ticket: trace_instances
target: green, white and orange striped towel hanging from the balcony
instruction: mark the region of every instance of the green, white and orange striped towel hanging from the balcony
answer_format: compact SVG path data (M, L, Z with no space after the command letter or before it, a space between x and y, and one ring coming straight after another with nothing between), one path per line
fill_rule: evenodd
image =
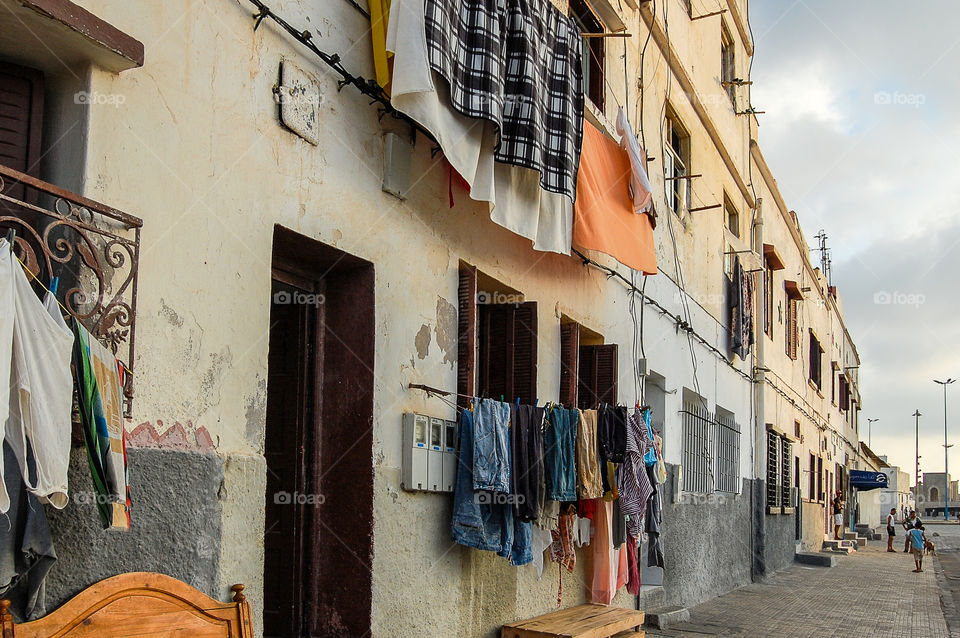
M97 509L104 527L130 528L127 451L123 429L123 387L116 357L74 319L80 421Z

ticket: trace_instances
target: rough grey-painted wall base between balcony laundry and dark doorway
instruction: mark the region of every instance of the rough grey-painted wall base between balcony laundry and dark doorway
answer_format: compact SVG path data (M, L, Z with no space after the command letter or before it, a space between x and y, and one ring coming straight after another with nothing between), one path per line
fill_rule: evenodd
M109 576L160 572L220 597L223 461L214 454L129 449L133 524L128 532L100 525L86 451L70 458L70 503L47 518L57 551L46 581L47 610Z

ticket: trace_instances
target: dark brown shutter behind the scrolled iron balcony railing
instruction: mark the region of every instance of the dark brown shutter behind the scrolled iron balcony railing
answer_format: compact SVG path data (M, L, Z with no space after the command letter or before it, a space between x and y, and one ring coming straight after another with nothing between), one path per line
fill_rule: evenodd
M40 131L43 124L43 74L13 64L0 64L0 164L39 177ZM7 184L7 194L30 203L22 184ZM5 203L0 203L3 207ZM9 211L10 204L5 204Z

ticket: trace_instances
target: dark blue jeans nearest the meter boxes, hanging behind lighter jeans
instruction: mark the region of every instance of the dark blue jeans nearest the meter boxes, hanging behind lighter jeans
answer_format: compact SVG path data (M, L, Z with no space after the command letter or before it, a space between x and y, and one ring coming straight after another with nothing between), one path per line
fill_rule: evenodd
M533 560L530 523L517 520L509 502L497 502L507 499L474 491L473 452L473 413L464 410L460 415L460 453L451 536L454 542L466 547L497 552L514 565L526 565Z

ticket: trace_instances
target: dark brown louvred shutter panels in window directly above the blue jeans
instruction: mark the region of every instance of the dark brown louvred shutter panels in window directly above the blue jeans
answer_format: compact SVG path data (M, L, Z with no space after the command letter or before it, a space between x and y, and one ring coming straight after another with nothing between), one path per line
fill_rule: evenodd
M482 396L537 399L537 304L479 307L479 384Z

